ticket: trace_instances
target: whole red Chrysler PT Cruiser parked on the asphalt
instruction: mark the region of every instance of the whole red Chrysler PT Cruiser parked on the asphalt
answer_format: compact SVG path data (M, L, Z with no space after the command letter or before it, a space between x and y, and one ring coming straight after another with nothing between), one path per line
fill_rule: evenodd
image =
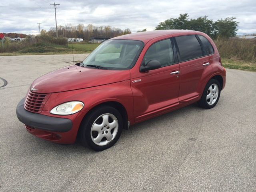
M17 106L31 134L93 150L113 146L122 129L198 102L213 108L226 70L209 36L156 30L103 42L83 62L36 79Z

